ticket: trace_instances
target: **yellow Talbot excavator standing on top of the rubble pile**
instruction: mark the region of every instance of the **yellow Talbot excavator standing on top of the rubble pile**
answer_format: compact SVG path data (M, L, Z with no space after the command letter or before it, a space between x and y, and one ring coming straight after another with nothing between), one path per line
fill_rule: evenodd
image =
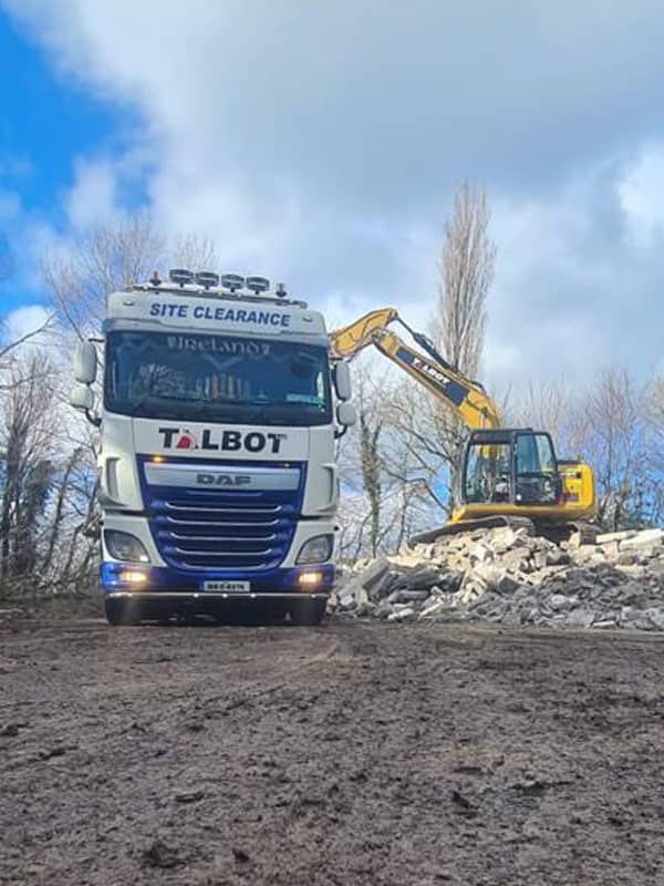
M422 349L407 344L390 324L400 323ZM413 536L432 542L477 527L526 526L556 542L575 532L592 535L594 477L590 465L558 459L551 435L532 427L502 427L485 388L448 362L434 342L411 329L394 308L370 311L330 333L332 360L351 360L373 346L448 406L468 429L460 465L459 505L445 526Z

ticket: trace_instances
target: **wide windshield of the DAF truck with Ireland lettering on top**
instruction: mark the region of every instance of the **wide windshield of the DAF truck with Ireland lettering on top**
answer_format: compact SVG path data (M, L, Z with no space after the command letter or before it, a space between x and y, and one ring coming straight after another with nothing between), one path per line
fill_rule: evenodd
M146 419L328 424L328 350L227 336L111 332L104 405Z

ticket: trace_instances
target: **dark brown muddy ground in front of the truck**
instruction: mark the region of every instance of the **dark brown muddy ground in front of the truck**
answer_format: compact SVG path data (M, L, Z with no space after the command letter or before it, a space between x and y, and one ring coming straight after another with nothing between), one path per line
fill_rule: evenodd
M662 884L664 638L0 627L0 883Z

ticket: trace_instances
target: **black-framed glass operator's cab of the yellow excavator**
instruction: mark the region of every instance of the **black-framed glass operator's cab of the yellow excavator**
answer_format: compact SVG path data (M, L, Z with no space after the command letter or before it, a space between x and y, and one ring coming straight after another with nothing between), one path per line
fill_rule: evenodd
M543 431L474 431L463 465L461 501L468 506L556 505L562 481L551 436Z

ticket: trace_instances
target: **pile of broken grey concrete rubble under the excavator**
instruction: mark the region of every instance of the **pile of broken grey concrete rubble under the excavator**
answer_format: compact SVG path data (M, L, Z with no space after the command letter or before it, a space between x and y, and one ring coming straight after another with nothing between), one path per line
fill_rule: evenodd
M342 574L331 607L387 621L664 630L664 530L579 535L475 529Z

